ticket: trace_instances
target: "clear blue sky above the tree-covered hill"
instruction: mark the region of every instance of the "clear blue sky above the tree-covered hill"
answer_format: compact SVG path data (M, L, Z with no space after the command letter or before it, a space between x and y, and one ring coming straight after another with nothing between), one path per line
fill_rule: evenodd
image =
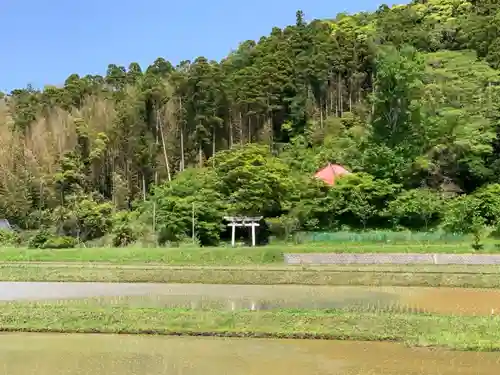
M390 3L387 1L387 3ZM273 26L375 10L380 0L0 0L0 90L61 84L110 63L147 67L203 55L219 60Z

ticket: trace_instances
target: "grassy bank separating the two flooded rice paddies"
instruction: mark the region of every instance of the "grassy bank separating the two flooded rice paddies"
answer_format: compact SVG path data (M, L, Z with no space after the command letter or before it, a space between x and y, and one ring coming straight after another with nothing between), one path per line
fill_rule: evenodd
M500 350L500 317L341 310L223 312L17 303L0 305L0 331L398 341L456 350Z

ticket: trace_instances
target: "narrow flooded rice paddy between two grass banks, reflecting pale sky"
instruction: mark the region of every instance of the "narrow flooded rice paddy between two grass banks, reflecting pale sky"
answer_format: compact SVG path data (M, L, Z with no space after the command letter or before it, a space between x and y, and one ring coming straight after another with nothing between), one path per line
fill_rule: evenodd
M373 308L440 314L500 314L500 290L423 287L0 282L0 301L73 300L140 307Z

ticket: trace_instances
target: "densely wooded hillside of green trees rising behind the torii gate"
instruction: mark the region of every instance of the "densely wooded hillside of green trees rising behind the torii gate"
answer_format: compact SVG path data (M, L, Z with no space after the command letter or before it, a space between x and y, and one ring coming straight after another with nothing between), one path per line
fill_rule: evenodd
M230 211L302 229L427 227L441 206L396 208L500 182L498 68L497 0L415 0L310 23L298 11L220 62L111 64L13 90L0 99L0 216L91 239L157 186L155 230L169 233L187 234L178 212L194 201L207 210L197 233ZM325 190L310 176L328 162L362 173Z

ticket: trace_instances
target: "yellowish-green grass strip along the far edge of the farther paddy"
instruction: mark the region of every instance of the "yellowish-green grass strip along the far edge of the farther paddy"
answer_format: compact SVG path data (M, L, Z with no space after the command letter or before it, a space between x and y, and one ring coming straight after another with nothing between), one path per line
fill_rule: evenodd
M499 276L499 266L460 265L165 267L104 264L0 264L0 281L499 288Z

